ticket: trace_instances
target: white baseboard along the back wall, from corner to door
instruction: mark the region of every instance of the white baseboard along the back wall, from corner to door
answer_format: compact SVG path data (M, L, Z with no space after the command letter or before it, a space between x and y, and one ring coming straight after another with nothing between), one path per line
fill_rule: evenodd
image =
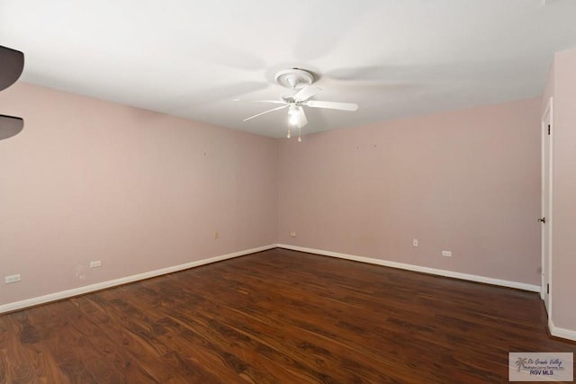
M452 277L455 279L484 282L486 284L500 285L502 287L509 287L509 288L516 288L518 290L530 290L532 292L540 292L540 286L539 285L527 284L525 282L493 279L491 277L478 276L475 274L446 271L446 270L423 267L423 266L419 266L419 265L406 264L406 263L397 263L397 262L391 262L388 260L373 259L371 257L340 254L338 252L323 251L321 249L305 248L302 246L289 246L286 244L278 244L277 246L279 248L291 249L293 251L301 251L301 252L308 252L308 253L317 254L317 255L338 257L340 259L353 260L355 262L371 263L371 264L383 265L386 267L399 268L399 269L408 270L408 271L423 272L423 273L429 273L429 274L436 274L438 276Z

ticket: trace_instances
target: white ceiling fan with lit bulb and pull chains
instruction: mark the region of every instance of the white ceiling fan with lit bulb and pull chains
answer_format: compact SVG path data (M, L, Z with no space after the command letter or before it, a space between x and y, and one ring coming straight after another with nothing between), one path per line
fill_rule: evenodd
M285 69L277 72L275 75L275 83L296 90L295 94L291 96L281 96L280 100L254 100L256 103L275 103L282 104L279 107L266 110L265 112L257 113L250 116L243 121L249 121L266 113L280 111L288 108L288 122L291 127L299 129L298 141L302 141L301 129L308 124L306 113L303 107L310 108L325 108L338 111L355 112L358 110L356 103L339 103L339 102L323 102L318 100L311 100L311 97L320 92L320 88L312 86L315 79L311 72L300 68ZM292 129L288 129L287 138L292 137Z

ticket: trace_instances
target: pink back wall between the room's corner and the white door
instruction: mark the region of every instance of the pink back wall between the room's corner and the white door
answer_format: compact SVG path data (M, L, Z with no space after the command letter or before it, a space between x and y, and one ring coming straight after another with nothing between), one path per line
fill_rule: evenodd
M536 98L283 140L278 241L539 285L539 121Z

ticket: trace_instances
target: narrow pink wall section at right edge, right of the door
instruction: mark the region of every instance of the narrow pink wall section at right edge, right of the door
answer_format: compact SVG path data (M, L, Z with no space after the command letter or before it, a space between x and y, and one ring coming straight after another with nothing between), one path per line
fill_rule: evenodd
M554 326L576 335L576 49L559 52L554 79Z

